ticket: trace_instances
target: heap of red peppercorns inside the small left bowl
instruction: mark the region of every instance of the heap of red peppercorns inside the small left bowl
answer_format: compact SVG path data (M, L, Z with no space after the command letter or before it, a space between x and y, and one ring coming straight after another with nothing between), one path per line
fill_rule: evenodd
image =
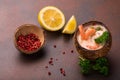
M27 35L19 35L17 39L19 48L25 51L34 51L41 46L41 42L37 35L30 33Z

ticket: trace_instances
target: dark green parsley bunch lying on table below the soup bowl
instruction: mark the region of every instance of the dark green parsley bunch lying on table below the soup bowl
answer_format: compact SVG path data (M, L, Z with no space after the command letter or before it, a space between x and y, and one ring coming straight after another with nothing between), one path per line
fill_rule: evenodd
M98 58L95 61L80 58L79 65L83 74L89 74L94 70L107 76L109 72L108 60L105 57Z

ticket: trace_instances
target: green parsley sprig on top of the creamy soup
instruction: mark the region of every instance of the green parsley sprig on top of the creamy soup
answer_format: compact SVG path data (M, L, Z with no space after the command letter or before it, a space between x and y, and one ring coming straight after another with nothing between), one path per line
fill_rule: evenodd
M95 39L95 42L100 44L100 43L105 43L109 38L109 33L108 31L105 31L100 37Z

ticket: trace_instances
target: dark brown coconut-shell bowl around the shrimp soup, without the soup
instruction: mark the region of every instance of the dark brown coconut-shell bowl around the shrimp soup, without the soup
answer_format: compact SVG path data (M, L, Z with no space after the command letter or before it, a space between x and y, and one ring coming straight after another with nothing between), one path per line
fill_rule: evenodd
M112 45L112 36L111 36L111 33L110 33L109 29L107 28L107 26L105 24L103 24L102 22L98 22L98 21L90 21L90 22L86 22L82 25L83 25L83 27L87 27L89 25L104 26L109 32L109 39L108 39L108 41L106 41L105 45L102 48L100 48L98 50L88 50L88 49L83 48L78 43L77 36L79 35L79 30L76 30L76 32L74 34L74 42L75 42L75 47L76 47L78 53L80 54L80 56L83 58L86 58L86 59L90 59L90 60L95 60L99 57L106 56Z

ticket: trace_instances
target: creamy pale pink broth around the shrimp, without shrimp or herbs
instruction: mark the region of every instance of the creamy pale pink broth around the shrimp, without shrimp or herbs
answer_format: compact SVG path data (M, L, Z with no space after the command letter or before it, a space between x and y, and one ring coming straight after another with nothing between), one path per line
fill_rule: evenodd
M96 31L95 34L93 36L89 37L87 40L82 40L80 34L77 36L78 43L81 45L81 47L88 49L88 50L98 50L104 46L105 43L104 44L96 44L96 42L94 40L94 39L98 38L99 36L101 36L105 31L107 31L107 29L104 26L102 26L102 25L94 25L94 26L90 25L90 26L86 27L85 30L89 29L89 28L97 29L98 27L101 30ZM98 46L98 47L95 49L91 49L89 46L92 46L92 47Z

